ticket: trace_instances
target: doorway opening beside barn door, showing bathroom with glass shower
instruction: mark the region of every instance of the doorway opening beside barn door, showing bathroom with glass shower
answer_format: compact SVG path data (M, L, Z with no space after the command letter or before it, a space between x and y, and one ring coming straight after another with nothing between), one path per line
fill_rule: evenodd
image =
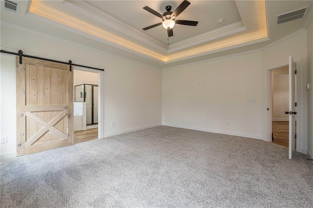
M99 74L74 68L74 144L100 138Z

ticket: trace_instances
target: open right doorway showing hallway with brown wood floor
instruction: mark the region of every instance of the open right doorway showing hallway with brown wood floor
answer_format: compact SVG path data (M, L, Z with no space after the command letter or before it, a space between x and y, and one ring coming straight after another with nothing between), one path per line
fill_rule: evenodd
M268 129L271 141L274 144L289 147L289 65L269 70L269 101L271 111Z

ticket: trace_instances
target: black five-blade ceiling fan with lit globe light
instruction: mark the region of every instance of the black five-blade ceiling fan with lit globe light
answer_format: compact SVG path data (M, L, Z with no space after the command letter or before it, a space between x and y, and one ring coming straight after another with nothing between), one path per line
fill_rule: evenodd
M157 17L161 18L163 22L151 25L149 27L143 28L143 30L149 30L151 28L154 28L158 25L163 25L165 29L167 29L167 35L168 37L173 36L173 27L175 24L183 24L183 25L190 25L190 26L197 26L198 21L189 21L189 20L175 20L179 14L184 11L188 6L190 2L187 0L182 1L179 6L175 9L174 12L171 12L172 6L166 6L166 12L164 12L162 15L155 10L151 9L149 6L143 7L144 10L150 12L153 15L156 15Z

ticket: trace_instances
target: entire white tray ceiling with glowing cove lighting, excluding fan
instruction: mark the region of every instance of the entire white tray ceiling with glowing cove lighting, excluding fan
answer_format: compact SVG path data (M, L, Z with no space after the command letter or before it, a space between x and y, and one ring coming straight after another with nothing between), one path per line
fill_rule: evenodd
M264 47L312 21L312 0L189 0L177 20L199 21L197 26L175 25L169 38L161 25L150 30L159 13L173 0L33 0L19 2L19 14L3 9L1 26L83 44L139 62L165 68L187 62ZM304 18L276 24L276 16L309 6ZM218 20L223 18L223 23Z

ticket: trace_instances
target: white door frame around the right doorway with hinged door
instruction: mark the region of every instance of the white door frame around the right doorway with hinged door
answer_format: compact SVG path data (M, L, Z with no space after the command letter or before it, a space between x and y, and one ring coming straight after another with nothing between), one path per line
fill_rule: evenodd
M269 110L267 110L268 113L268 118L266 119L266 126L267 126L267 134L266 134L266 141L271 142L272 141L272 135L271 135L271 128L272 128L272 96L271 96L271 84L272 84L272 76L271 76L271 71L274 69L278 69L284 66L288 66L289 64L286 65L281 65L275 68L271 68L271 69L267 69L266 73L267 73L267 91L266 91L266 98L267 98L267 108L269 108ZM302 64L301 62L296 62L296 70L297 70L297 76L296 76L296 98L297 98L297 126L296 126L296 131L297 131L297 142L296 142L296 151L297 152L302 152L304 154L306 154L306 152L304 152L304 150L302 149L302 135L303 134L303 127L302 127L302 106L301 106L301 99L302 99L302 92L301 92L301 84L302 84L302 80L301 80L301 67Z

